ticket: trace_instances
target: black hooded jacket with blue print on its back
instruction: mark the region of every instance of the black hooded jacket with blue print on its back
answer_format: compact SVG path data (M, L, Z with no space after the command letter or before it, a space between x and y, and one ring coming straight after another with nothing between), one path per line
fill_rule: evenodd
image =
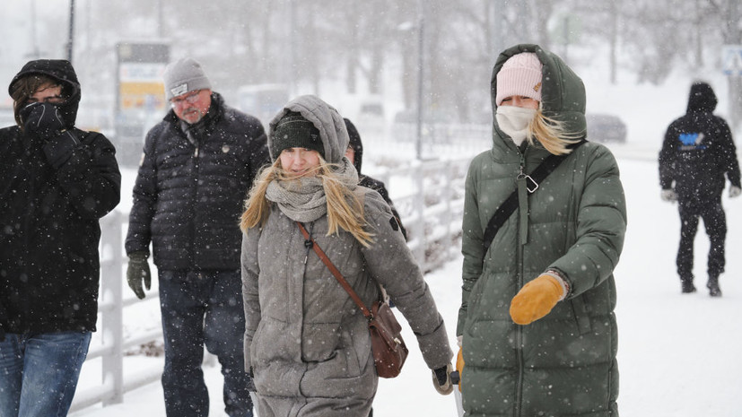
M729 125L714 116L716 94L707 83L694 83L685 116L668 126L659 152L659 184L673 187L680 201L711 202L720 198L726 173L739 185L737 148Z

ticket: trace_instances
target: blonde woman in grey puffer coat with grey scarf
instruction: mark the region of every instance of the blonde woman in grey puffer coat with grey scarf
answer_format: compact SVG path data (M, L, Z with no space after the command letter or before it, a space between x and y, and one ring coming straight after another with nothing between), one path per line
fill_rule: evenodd
M367 306L379 299L378 284L386 288L442 376L436 388L450 387L441 315L388 205L356 186L347 145L343 117L314 96L292 100L270 123L274 163L250 190L241 221L245 366L261 417L366 416L377 388L367 320L296 222Z

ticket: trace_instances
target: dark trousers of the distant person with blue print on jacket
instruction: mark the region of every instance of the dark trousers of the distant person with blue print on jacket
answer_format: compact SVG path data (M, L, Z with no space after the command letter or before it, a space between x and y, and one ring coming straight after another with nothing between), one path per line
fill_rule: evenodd
M721 197L711 202L679 202L680 248L677 249L677 274L680 279L693 279L693 244L698 219L703 219L706 234L711 239L707 272L718 277L724 272L724 240L727 238L727 218L721 207Z

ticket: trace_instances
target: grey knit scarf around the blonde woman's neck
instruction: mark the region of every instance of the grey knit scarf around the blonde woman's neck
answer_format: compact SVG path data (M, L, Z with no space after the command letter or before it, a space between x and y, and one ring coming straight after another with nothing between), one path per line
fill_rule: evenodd
M358 173L346 158L333 172L345 187L354 189L358 185ZM295 222L314 222L327 213L325 188L316 177L274 179L268 184L266 198L278 204L281 212Z

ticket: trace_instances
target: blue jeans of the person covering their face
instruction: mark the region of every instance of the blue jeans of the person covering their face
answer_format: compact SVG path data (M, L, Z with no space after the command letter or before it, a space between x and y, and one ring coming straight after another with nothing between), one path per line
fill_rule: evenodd
M0 417L64 417L90 332L5 334L0 342Z

